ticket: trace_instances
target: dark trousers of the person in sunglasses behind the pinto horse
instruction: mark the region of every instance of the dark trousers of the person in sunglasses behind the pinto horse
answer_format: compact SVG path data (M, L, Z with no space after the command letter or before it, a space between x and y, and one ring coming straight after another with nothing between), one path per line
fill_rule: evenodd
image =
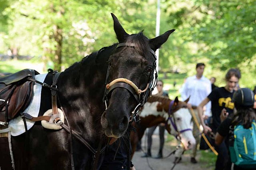
M154 130L156 129L157 126L150 127L148 128L148 150L151 149L152 145L152 134L154 133ZM159 126L159 137L160 137L160 148L159 151L163 150L164 147L164 126Z

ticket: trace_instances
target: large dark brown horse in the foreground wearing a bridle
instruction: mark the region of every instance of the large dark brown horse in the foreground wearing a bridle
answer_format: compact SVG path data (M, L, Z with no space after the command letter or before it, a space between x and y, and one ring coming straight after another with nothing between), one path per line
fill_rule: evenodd
M154 88L154 52L174 30L148 39L142 32L129 35L114 14L112 18L118 43L74 63L53 86L58 89L58 108L69 121L69 125L65 121L66 130L46 129L37 122L27 135L12 136L16 170L89 170L95 166L94 156L99 168L104 154L96 151L120 138L133 118L132 111L146 101ZM52 85L52 76L49 73L44 83ZM38 116L51 108L51 90L44 86Z

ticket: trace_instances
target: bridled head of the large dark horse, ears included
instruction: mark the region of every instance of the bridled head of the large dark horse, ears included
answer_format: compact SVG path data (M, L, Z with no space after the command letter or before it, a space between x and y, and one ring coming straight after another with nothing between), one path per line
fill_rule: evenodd
M154 86L154 52L174 30L148 39L142 32L127 34L114 14L112 18L119 44L108 60L109 84L106 88L108 93L105 93L108 107L102 114L101 125L107 136L118 138L126 131L132 111L139 103L144 103L143 100L146 100ZM140 89L146 91L141 92Z

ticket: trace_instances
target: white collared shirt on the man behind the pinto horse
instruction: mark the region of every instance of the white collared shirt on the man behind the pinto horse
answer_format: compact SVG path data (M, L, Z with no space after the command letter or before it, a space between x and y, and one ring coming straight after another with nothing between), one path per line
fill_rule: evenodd
M196 78L196 75L188 77L182 88L180 94L182 100L188 99L188 103L192 106L198 106L212 91L211 82L206 77L202 76L200 79ZM205 115L210 116L211 102L206 104Z

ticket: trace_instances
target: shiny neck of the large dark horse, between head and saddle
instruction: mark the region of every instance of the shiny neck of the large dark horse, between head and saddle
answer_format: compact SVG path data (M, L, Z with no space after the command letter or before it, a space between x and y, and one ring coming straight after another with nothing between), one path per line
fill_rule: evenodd
M95 57L62 72L57 86L70 126L85 139L97 141L102 131L100 117L105 110L102 98L108 65L95 63Z

